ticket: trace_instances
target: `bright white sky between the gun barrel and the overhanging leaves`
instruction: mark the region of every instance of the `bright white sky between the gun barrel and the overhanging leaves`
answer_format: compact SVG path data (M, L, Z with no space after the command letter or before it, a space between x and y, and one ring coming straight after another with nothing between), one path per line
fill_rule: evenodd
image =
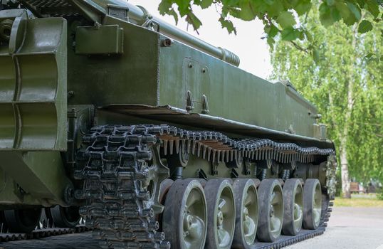
M152 16L162 18L175 25L172 16L161 16L158 11L160 0L129 0L130 4L144 6ZM196 16L202 21L202 26L199 28L199 34L193 31L192 26L187 28L187 22L179 20L177 27L184 31L192 33L194 36L201 38L214 46L229 49L229 51L236 53L241 58L239 68L253 73L261 78L267 78L271 75L270 55L268 52L268 45L266 39L261 39L265 36L263 33L263 24L261 21L241 21L233 18L231 21L237 29L237 35L230 34L226 29L221 28L219 23L219 14L216 13L214 7L209 9L194 8Z

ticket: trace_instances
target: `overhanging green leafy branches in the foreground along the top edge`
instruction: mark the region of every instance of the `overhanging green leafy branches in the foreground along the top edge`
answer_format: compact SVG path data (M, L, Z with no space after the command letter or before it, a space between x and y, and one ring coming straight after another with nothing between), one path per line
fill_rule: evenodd
M374 25L379 26L383 18L383 0L162 0L159 12L174 16L176 22L184 17L198 30L202 23L194 14L193 7L206 9L212 5L216 7L221 26L229 33L236 33L231 18L245 21L258 18L263 21L265 38L271 47L280 35L281 39L290 41L295 48L311 53L315 61L318 61L317 47L313 43L311 30L303 25L311 9L319 11L323 26L342 21L347 26L354 26L359 33L371 31ZM362 12L372 18L364 18ZM300 17L299 22L295 16ZM296 40L306 40L308 43L301 46Z

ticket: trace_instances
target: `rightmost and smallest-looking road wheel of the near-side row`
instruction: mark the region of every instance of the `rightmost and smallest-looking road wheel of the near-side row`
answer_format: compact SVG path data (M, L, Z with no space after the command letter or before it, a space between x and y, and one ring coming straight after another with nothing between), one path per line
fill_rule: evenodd
M318 179L307 179L303 186L303 228L315 230L322 215L322 190Z

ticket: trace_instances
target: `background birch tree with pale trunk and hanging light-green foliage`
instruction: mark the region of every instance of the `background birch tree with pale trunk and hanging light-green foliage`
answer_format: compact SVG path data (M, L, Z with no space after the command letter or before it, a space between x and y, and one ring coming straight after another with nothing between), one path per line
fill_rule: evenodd
M289 79L318 105L338 148L342 191L350 197L350 176L364 182L369 177L383 179L383 23L362 34L358 30L363 21L352 26L340 21L325 28L317 24L320 15L320 9L313 8L304 24L318 47L318 63L277 38L272 78ZM360 19L373 18L362 12ZM298 43L307 46L308 41Z

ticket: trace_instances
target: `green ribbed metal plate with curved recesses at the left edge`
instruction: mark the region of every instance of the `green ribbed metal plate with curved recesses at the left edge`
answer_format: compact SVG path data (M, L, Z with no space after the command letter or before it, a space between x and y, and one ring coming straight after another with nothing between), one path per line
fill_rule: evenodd
M63 18L1 11L0 149L65 150L67 34Z

